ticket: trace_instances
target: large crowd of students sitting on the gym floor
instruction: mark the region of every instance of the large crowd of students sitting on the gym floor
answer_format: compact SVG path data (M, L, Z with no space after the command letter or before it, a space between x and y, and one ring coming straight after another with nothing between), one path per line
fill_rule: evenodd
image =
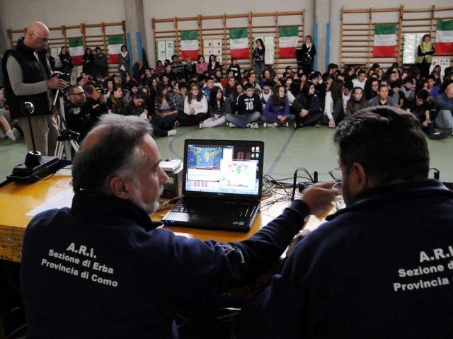
M172 61L159 60L154 69L139 60L132 72L125 62L120 62L118 70L122 77L113 74L101 81L83 72L77 84L87 96L95 87L103 89L106 105L98 113L142 116L161 137L187 126L333 128L357 111L377 105L412 112L430 139L453 136L450 120L438 114L449 100L445 88L452 82L451 67L445 69L443 81L440 66L425 79L416 67L400 71L398 64L386 71L379 64L369 70L347 67L343 71L329 64L324 74L288 66L279 75L273 67L264 67L260 74L253 69L241 71L237 59L224 71L214 55L209 62L200 55L197 63L190 57L183 63L173 55ZM449 132L436 132L436 124Z

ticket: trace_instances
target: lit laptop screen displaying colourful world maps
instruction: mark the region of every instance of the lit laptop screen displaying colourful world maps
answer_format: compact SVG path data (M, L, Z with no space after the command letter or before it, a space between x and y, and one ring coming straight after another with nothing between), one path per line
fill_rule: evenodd
M264 143L185 140L185 195L260 199Z

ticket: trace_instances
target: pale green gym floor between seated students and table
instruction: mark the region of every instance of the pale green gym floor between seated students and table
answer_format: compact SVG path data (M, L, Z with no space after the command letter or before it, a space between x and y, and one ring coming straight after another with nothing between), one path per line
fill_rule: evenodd
M336 147L333 144L333 129L321 126L304 127L293 130L292 127L260 128L242 130L227 126L205 128L178 127L178 134L173 137L156 138L163 160L183 159L185 139L248 139L265 142L264 173L275 180L292 182L294 171L306 168L311 175L318 171L319 180L328 180L328 171L338 166ZM452 154L453 137L445 140L429 140L430 167L440 171L440 180L453 182ZM23 139L12 142L0 139L0 183L6 180L13 167L25 161L26 147ZM299 172L302 175L302 172ZM430 171L430 178L433 172ZM299 181L305 181L300 178Z

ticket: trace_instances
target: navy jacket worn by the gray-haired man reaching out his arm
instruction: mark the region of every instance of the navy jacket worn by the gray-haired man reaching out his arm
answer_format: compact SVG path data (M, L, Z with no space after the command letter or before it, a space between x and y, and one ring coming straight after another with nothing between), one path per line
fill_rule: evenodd
M173 338L176 306L258 277L308 213L299 200L249 239L219 243L156 229L127 200L76 193L71 209L38 214L25 231L28 338Z

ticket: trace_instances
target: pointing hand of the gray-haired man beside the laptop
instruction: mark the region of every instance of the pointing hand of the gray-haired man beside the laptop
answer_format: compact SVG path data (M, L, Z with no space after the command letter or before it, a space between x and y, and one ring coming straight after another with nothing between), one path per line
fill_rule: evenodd
M310 214L320 215L331 207L340 190L332 188L335 182L315 183L302 191L302 197L298 198L309 205Z

